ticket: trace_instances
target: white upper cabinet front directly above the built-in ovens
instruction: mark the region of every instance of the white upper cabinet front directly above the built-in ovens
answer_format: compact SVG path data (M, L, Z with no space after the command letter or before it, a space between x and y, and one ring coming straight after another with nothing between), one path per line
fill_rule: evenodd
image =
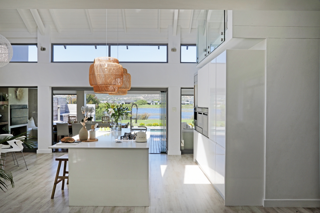
M207 64L198 70L198 107L209 107L208 67Z

